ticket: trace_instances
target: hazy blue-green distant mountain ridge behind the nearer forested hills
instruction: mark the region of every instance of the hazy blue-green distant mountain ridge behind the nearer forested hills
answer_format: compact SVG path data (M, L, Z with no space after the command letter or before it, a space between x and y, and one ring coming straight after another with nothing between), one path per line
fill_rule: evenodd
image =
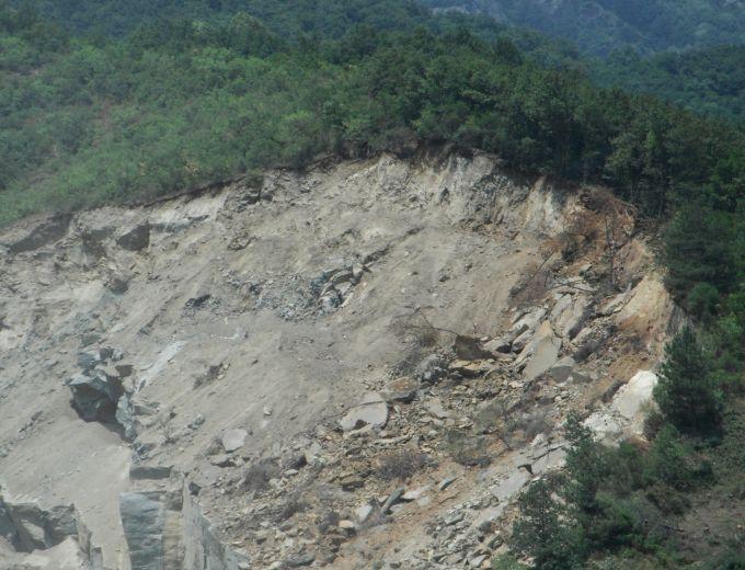
M425 0L435 9L482 12L607 55L745 43L743 0Z

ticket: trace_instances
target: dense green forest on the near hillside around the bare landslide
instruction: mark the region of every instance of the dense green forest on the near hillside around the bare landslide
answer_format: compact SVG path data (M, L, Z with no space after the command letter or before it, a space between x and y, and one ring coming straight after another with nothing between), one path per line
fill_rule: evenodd
M742 54L619 53L587 73L563 44L394 0L0 3L0 224L419 145L608 186L665 225L694 328L668 350L651 448L570 422L566 472L526 493L532 539L513 547L540 569L701 568L663 521L697 492L745 497L745 134L706 116L743 118ZM738 551L700 562L745 568Z

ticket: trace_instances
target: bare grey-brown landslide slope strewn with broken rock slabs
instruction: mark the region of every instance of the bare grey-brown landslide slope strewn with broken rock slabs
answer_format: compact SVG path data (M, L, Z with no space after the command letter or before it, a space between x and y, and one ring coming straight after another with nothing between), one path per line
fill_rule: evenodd
M485 567L569 410L640 433L676 320L632 210L483 155L0 243L0 568Z

